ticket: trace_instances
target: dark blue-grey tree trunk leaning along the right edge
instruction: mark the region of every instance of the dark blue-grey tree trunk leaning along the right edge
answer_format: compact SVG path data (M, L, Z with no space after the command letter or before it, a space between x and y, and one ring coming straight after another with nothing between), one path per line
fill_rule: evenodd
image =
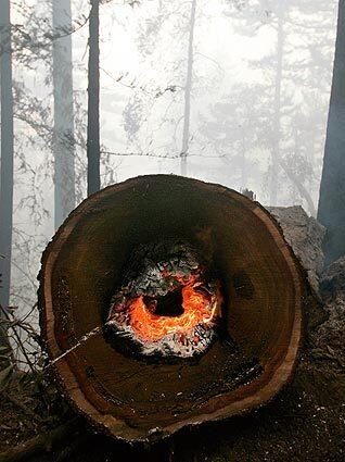
M345 254L345 1L340 0L318 220L327 227L325 264Z

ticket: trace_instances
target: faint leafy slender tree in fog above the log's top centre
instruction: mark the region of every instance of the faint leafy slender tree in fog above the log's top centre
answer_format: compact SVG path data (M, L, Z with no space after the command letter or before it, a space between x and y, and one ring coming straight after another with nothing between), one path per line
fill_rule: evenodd
M154 78L137 86L124 111L124 127L135 149L148 155L178 159L182 176L188 173L188 158L199 155L191 153L195 146L195 126L191 133L191 125L201 100L192 104L193 92L205 95L219 80L218 74L203 76L201 62L206 60L222 71L216 60L199 51L195 42L196 24L202 28L212 17L207 4L202 0L161 1L141 20L138 49L145 59L143 66L149 64L146 75L152 75L150 63L156 60L161 64ZM127 86L135 88L135 83Z

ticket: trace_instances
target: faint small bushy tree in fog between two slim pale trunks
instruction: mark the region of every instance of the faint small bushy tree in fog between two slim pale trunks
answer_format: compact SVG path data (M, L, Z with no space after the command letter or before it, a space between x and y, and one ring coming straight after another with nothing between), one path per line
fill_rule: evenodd
M231 87L230 91L210 104L202 114L199 128L201 146L207 146L227 165L227 177L238 190L253 187L259 165L253 151L265 149L269 92L261 85Z

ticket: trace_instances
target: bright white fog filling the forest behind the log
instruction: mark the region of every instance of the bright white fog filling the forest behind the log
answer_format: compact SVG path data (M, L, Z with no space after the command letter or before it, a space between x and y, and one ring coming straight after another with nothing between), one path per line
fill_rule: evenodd
M266 205L301 204L315 215L337 2L197 0L195 5L187 175L251 189ZM100 7L102 187L149 173L181 173L191 7L180 0ZM88 14L87 1L72 1L77 202L87 196ZM51 4L13 4L12 22L40 37L42 24L51 28ZM54 234L49 47L36 60L27 47L13 55L11 303L23 311L36 300L40 255Z

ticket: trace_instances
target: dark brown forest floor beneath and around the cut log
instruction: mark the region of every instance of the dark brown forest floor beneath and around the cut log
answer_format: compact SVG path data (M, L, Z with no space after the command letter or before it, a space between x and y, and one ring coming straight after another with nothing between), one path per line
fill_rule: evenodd
M318 297L322 322L309 323L294 378L268 405L153 446L128 446L94 434L53 387L42 394L24 374L1 394L0 462L345 461L344 258L321 274Z

